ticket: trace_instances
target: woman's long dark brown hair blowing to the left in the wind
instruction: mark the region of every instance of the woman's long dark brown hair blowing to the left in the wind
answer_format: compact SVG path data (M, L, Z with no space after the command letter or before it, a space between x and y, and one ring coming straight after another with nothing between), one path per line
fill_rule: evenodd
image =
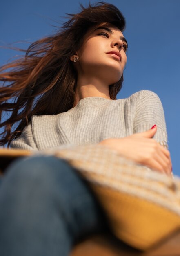
M12 112L0 123L0 128L4 127L0 146L8 143L9 147L32 115L56 115L73 107L77 75L69 58L80 49L89 28L108 22L124 31L125 18L113 4L98 2L80 7L80 13L66 13L69 20L56 34L35 41L23 57L0 67L0 122L3 111ZM9 68L11 71L5 72ZM117 83L109 85L111 99L116 100L122 82L123 75Z

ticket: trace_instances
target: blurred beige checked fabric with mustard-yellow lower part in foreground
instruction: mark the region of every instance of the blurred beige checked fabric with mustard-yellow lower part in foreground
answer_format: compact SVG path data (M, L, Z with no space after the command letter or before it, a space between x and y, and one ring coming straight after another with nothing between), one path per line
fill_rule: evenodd
M36 151L66 160L88 180L113 233L147 250L180 228L180 179L135 164L101 145Z

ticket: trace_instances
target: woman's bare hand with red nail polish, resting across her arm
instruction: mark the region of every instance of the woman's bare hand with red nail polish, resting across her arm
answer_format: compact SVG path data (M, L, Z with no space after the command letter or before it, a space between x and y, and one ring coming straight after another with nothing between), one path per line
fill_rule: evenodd
M105 139L99 144L117 150L120 155L138 164L171 176L170 153L155 139L152 139L156 131L157 126L146 132L135 133L128 137Z

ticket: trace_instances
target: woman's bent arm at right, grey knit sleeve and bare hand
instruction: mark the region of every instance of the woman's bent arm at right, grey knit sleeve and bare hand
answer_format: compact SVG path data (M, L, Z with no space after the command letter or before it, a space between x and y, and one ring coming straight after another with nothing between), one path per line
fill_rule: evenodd
M133 134L124 138L106 139L100 144L138 164L171 175L171 157L166 148L167 132L160 99L154 92L142 90L128 100L136 107ZM156 128L151 130L154 124ZM160 145L162 141L165 146Z

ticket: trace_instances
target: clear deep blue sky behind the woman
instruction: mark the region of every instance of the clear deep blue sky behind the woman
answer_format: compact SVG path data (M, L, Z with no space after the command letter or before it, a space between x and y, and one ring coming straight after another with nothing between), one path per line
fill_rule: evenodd
M90 1L94 3L96 1ZM180 176L180 0L111 0L127 22L128 61L118 99L139 90L156 92L167 124L173 173ZM65 13L77 13L89 0L3 1L0 8L0 45L26 40L14 46L26 49L30 42L52 34ZM0 48L0 65L16 51Z

